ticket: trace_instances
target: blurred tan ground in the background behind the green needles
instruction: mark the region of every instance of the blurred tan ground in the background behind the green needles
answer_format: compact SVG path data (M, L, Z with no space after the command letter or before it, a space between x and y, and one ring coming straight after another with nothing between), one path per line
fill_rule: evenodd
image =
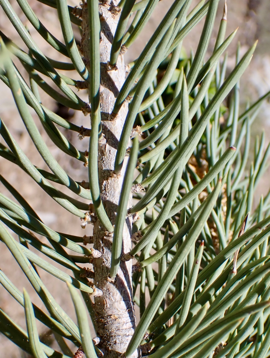
M160 23L162 17L168 10L169 6L172 4L172 0L162 0L159 2L156 10L147 26L145 27L143 34L135 41L134 44L130 47L129 51L125 55L126 63L132 61L134 58L138 57L141 49L144 47L151 34L153 34L156 26ZM59 40L63 41L61 36L61 29L59 26L59 21L57 19L57 11L55 9L49 8L43 4L40 4L38 1L30 0L30 5L37 14L38 18L42 23L52 32ZM193 1L193 5L196 5L198 0ZM33 30L32 26L29 24L29 21L26 19L23 12L20 10L18 4L15 0L11 1L13 8L16 10L16 13L19 15L23 24L27 24L32 34L34 40L38 43L39 47L42 49L43 53L47 56L54 59L61 59L60 55L52 50L52 48ZM69 5L79 5L75 0L69 1ZM216 20L216 25L214 28L212 40L209 49L213 49L214 40L217 34L219 21L222 16L224 2L220 0L220 5L218 9L218 16ZM265 92L270 89L270 3L267 0L241 0L233 1L228 0L228 26L227 26L227 35L235 30L238 26L238 32L236 38L229 48L229 67L233 67L235 63L235 49L237 41L240 40L242 45L242 51L244 52L248 46L254 43L256 39L259 39L259 44L256 50L256 54L252 59L249 69L244 74L241 81L241 106L245 106L246 100L249 98L250 101L256 100L257 97L263 95ZM184 40L184 47L187 51L190 48L196 50L200 31L202 29L203 22L197 25L197 27L188 35ZM10 24L9 20L6 18L3 10L0 10L0 29L10 37L16 44L21 48L26 50L25 45L19 38L18 34L14 30L13 26ZM76 33L77 37L79 36ZM27 51L27 50L26 50ZM64 59L64 58L62 58ZM16 61L15 61L16 62ZM18 62L16 62L18 64ZM19 66L19 64L18 64ZM21 68L21 67L20 67ZM24 73L24 72L23 72ZM73 75L75 78L75 75ZM47 78L48 80L48 78ZM52 101L49 96L47 96L42 90L40 90L43 104L50 108L51 110L56 110L57 106L54 101ZM80 92L85 99L86 93ZM63 154L53 143L48 139L48 136L45 135L40 122L35 115L34 111L31 109L31 113L35 119L35 122L42 132L44 140L48 145L49 149L52 151L53 155L61 164L61 166L67 171L68 174L72 176L75 180L87 180L87 168L85 168L81 162L71 159L71 157ZM42 169L48 169L44 164L42 158L39 156L37 150L35 149L24 125L21 121L18 111L14 105L13 98L9 89L0 82L0 116L5 124L8 125L11 134L18 141L21 149L28 156L28 158L35 165L39 166ZM72 118L72 121L78 125L83 125L85 127L90 126L90 119L84 117L81 113L76 113ZM258 119L253 125L252 134L260 134L262 129L266 131L266 142L270 140L270 105L268 102L265 102ZM64 131L64 134L67 135L68 139L79 149L86 150L88 146L88 140L84 139L80 141L76 133L71 131ZM3 139L0 141L4 144ZM40 218L44 221L45 224L52 227L54 230L67 232L69 234L90 234L91 227L88 226L86 230L82 230L80 227L79 218L74 217L72 214L69 214L62 207L54 202L53 199L48 197L39 186L29 178L23 170L16 167L16 165L9 163L3 158L0 158L0 174L3 175L11 185L13 185L21 195L32 205L35 211L37 211ZM269 188L268 179L269 173L265 175L264 179L260 185L260 192L266 193ZM57 186L57 185L56 185ZM60 186L59 186L60 187ZM63 187L61 186L63 190ZM0 185L0 191L5 195L9 196L8 191ZM68 191L65 190L67 193ZM69 193L70 195L70 193ZM259 199L256 197L255 202L257 203ZM35 251L35 250L34 250ZM42 308L42 303L34 293L32 286L29 284L28 280L25 278L20 267L15 262L8 249L3 243L0 242L0 268L4 273L9 277L9 279L22 291L25 287L30 293L33 301L40 308ZM63 269L63 268L61 268ZM55 279L49 274L45 273L39 269L39 274L50 290L52 295L55 297L57 302L62 306L64 310L75 319L74 310L69 298L69 294L64 282ZM0 286L0 306L1 308L11 316L12 319L16 321L21 327L25 329L25 318L24 311L21 306L15 302L15 300ZM44 327L41 324L38 325L39 332L44 331ZM57 346L54 346L57 348ZM70 345L70 347L73 349ZM0 334L0 357L7 358L21 358L26 357L23 353L8 339Z

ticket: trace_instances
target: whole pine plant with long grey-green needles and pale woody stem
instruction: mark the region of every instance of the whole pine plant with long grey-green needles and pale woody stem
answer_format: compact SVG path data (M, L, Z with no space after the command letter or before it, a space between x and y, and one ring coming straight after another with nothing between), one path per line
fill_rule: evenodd
M195 8L191 0L175 0L138 59L125 64L124 53L143 36L158 0L88 0L75 8L66 0L38 1L57 9L64 43L44 27L27 0L17 0L34 29L67 62L46 57L9 1L0 0L29 50L1 32L0 78L50 171L30 162L5 118L0 118L0 155L72 213L74 225L91 224L94 231L83 237L54 231L0 176L16 200L0 193L0 240L47 309L32 304L28 292L20 292L0 270L0 283L24 307L27 326L26 332L0 309L0 332L35 358L269 357L270 192L257 207L253 202L270 154L264 133L256 138L251 163L249 158L251 124L270 93L239 110L240 78L256 43L242 57L238 46L229 72L226 49L236 31L226 34L226 4L220 20L218 0L202 0ZM215 20L220 21L216 43L204 63ZM185 56L182 42L200 21L196 52ZM82 34L78 47L72 26ZM15 57L28 77L16 68ZM81 79L74 80L74 73ZM61 105L90 115L91 128L46 108L40 88ZM81 99L83 91L89 103ZM110 110L104 110L106 101ZM29 107L54 144L88 166L88 182L76 182L57 163ZM88 153L71 144L61 127L89 140ZM106 150L109 142L112 149ZM119 197L112 203L116 185ZM85 263L93 270L85 270ZM76 322L45 287L40 269L67 283ZM97 337L91 337L89 315ZM58 351L42 342L37 320L54 333Z

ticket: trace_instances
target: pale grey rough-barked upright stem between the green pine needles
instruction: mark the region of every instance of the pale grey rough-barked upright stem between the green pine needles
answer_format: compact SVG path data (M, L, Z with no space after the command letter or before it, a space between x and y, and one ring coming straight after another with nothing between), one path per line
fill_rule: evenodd
M121 130L127 115L128 106L125 102L116 117L111 117L116 96L125 81L125 64L123 55L120 54L117 66L108 71L107 63L110 61L111 43L120 13L110 11L114 9L115 1L99 4L101 20L100 33L100 103L101 103L101 124L102 136L98 149L98 170L100 176L100 192L103 205L114 225L117 205L126 170L127 160L120 174L114 174L114 162L117 145L120 139ZM89 59L88 44L88 15L87 4L82 5L82 41L81 50L84 58ZM108 120L110 118L110 120ZM130 145L130 143L129 143ZM131 207L132 196L128 207ZM132 218L127 217L123 230L122 254L131 250L131 228ZM95 296L93 310L96 317L96 331L101 338L99 347L107 351L107 357L119 357L126 351L127 345L134 333L135 315L132 295L132 262L121 261L119 271L115 280L108 278L111 263L112 233L108 233L101 227L100 222L93 223L94 248L101 253L101 257L93 258L95 271L94 285L102 291L102 295ZM138 357L135 352L133 357Z

